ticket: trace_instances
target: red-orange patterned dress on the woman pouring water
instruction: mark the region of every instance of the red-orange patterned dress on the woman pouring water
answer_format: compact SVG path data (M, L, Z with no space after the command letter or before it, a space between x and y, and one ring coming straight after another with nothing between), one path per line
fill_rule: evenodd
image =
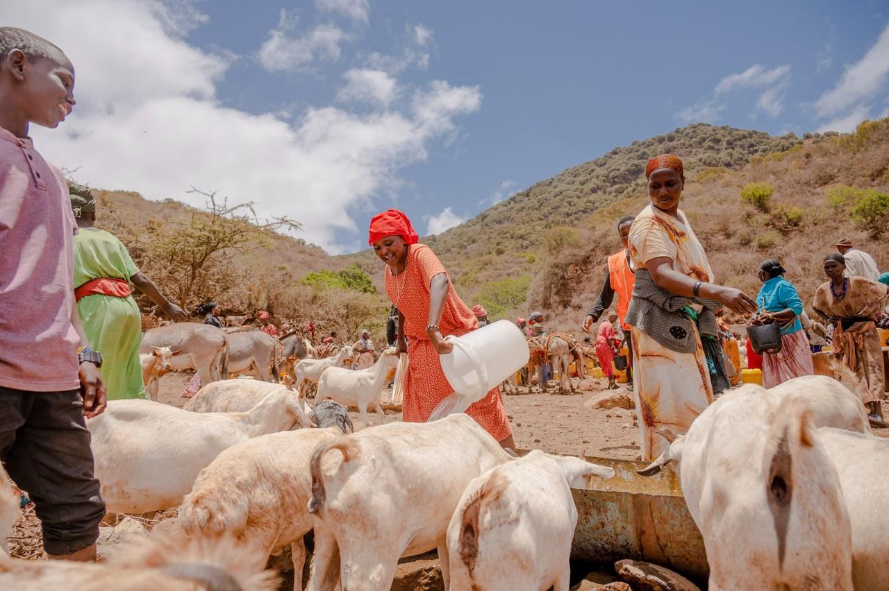
M426 326L429 317L429 281L445 267L431 248L425 244L408 247L407 265L404 272L393 276L386 266L386 293L398 310L404 314L404 335L410 359L404 376L404 403L402 418L405 422L426 422L438 403L453 393L445 378L438 351L429 341ZM442 319L438 323L442 335L461 336L478 327L478 320L469 306L457 296L451 278ZM466 411L497 441L509 437L509 420L503 409L500 387L494 388Z

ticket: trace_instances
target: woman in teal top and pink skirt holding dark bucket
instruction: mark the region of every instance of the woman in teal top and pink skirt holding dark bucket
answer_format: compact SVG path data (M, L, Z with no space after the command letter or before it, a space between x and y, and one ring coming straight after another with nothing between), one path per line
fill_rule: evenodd
M763 385L777 386L800 375L814 374L812 349L799 321L803 301L797 288L784 279L784 267L770 258L759 265L759 280L763 287L757 295L759 318L781 325L781 351L765 351L763 355Z

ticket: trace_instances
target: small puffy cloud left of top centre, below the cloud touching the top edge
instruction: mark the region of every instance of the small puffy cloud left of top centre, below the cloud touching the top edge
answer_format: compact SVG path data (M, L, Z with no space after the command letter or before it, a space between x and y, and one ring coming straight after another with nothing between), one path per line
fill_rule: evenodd
M339 27L318 25L301 37L291 37L285 30L268 31L268 39L260 47L260 63L269 72L299 70L316 59L340 59L340 43L348 35Z

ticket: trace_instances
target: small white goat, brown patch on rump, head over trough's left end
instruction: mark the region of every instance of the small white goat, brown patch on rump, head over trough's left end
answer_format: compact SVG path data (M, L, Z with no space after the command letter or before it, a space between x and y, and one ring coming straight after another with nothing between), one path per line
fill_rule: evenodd
M473 478L447 529L451 588L568 591L572 488L614 470L541 451Z

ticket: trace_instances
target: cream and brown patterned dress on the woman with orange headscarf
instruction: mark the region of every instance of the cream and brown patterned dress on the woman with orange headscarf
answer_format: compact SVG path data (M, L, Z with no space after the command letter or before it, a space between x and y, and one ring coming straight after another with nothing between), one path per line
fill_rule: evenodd
M643 209L630 228L629 244L636 269L654 258L666 256L672 259L671 266L677 272L694 280L713 280L707 255L681 209L678 218L654 209L652 205ZM668 445L667 440L656 433L658 429L669 427L681 435L713 402L713 387L701 337L694 323L692 329L695 351L679 353L632 327L636 364L633 368L634 394L644 461L652 461Z

